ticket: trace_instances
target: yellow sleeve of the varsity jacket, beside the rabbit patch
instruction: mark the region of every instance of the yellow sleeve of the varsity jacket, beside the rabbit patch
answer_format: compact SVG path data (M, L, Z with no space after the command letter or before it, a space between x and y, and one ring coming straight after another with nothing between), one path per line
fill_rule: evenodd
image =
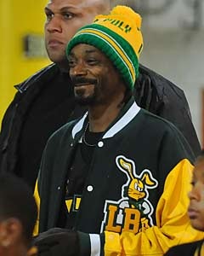
M156 225L134 235L105 231L105 256L163 255L169 247L204 238L194 230L187 215L188 191L193 166L182 160L168 174L156 207Z

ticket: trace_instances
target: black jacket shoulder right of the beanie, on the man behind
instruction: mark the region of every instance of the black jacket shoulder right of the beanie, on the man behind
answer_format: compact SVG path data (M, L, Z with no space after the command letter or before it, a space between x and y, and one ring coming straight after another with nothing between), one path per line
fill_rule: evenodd
M133 96L139 107L173 123L183 133L195 156L201 154L201 145L183 90L140 64L139 78L136 79Z

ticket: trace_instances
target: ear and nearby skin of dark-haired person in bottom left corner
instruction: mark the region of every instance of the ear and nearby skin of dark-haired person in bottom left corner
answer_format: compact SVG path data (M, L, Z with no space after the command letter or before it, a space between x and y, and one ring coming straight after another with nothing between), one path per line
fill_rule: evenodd
M17 218L7 218L0 224L0 245L10 247L22 239L22 224Z

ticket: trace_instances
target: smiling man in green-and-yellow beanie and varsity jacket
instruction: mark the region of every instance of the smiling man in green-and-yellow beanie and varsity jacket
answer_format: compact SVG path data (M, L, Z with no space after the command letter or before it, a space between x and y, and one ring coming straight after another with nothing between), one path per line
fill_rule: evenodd
M44 150L35 191L40 256L163 255L203 238L186 211L189 144L131 96L140 27L138 14L118 6L68 44L75 96L88 112L56 131Z

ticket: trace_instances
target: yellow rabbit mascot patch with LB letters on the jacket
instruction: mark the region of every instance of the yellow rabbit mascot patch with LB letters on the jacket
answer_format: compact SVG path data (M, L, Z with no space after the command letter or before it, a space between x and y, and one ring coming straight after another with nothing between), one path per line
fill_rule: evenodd
M158 182L150 170L144 169L137 175L133 160L123 155L116 157L116 166L127 175L127 183L122 186L122 198L119 201L105 201L101 232L131 231L137 234L153 225L151 214L154 209L148 200L148 189L155 189Z

